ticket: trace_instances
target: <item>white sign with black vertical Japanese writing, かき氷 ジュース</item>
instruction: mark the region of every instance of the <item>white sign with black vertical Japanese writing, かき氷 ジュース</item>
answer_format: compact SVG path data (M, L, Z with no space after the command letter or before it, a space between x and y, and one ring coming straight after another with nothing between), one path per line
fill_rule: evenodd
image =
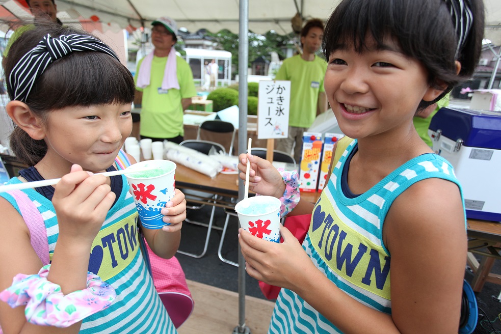
M287 138L291 81L259 81L257 138Z

